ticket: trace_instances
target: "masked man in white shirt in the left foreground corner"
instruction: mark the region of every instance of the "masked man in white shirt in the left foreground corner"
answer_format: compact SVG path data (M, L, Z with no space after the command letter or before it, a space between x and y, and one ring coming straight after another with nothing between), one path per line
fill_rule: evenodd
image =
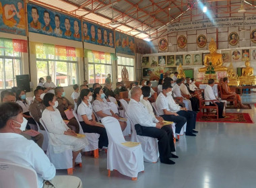
M37 173L38 187L82 188L73 176L55 176L56 169L44 151L33 141L20 135L24 128L22 108L16 103L0 105L0 160L22 164ZM26 125L25 125L26 126Z

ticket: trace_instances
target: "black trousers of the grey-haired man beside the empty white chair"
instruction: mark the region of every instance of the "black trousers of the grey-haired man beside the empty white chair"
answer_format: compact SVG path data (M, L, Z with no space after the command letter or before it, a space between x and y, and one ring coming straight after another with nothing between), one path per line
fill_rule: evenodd
M135 130L139 136L149 136L158 139L160 161L167 160L172 156L171 152L175 151L175 147L172 138L173 132L170 126L163 126L161 129L158 129L135 124Z

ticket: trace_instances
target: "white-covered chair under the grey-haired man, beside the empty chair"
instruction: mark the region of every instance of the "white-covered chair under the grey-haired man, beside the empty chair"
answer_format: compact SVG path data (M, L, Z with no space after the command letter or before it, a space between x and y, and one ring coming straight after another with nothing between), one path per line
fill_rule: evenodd
M131 122L131 141L141 143L141 148L143 150L143 160L145 162L157 162L159 157L158 140L149 136L137 135L134 122L131 120L131 118L129 118L127 113L126 116L129 122Z

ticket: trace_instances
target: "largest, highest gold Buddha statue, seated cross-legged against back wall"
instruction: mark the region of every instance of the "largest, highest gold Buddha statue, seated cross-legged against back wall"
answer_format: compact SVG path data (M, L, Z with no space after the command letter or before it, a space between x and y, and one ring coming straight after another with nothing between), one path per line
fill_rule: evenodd
M228 68L226 68L226 66L222 66L222 64L223 64L222 54L219 54L216 52L217 46L216 46L216 42L214 42L213 38L209 44L209 50L210 50L210 54L206 54L205 58L203 60L205 67L199 68L199 72L207 71L207 68L210 65L210 62L212 62L214 71L227 71Z

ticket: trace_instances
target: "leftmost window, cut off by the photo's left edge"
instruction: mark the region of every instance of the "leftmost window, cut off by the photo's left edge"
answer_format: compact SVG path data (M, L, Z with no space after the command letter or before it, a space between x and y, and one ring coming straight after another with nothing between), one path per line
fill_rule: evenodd
M16 75L22 73L22 55L13 50L13 42L0 38L0 89L17 86Z

